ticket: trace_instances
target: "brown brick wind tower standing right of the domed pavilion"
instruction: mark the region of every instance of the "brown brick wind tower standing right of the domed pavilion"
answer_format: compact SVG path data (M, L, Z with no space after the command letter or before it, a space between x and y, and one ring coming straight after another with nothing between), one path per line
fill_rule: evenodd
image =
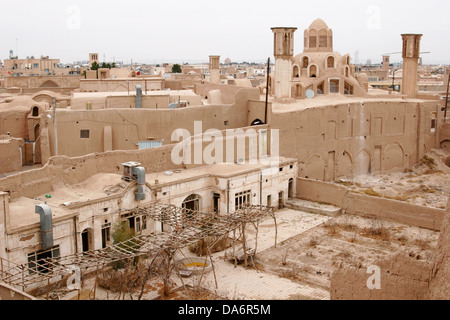
M419 70L421 34L402 34L403 79L402 93L408 97L417 96L417 72Z

